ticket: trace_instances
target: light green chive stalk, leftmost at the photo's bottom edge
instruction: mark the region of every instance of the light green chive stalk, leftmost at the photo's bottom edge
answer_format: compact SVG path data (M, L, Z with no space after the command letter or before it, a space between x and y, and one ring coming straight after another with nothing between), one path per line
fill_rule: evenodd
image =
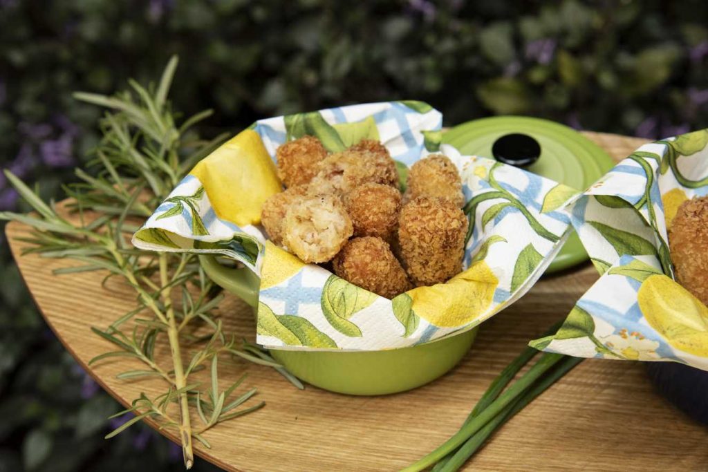
M495 401L487 408L482 410L479 415L473 418L470 422L463 425L460 430L455 433L450 439L447 439L438 449L430 452L427 456L416 461L414 464L404 468L401 472L418 472L426 467L432 466L440 459L450 454L457 447L462 445L474 433L481 430L484 425L493 420L507 405L516 400L526 389L533 384L536 379L547 372L564 356L560 354L545 352L541 358L534 364L528 372L526 372L518 381L515 381L506 391L501 393Z

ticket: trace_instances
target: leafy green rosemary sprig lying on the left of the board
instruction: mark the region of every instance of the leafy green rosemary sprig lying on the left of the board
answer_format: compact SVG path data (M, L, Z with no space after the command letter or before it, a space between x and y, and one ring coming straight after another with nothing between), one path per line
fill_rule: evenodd
M198 138L191 127L208 117L209 110L177 123L167 100L177 59L167 65L157 86L130 81L132 91L113 97L76 93L75 97L108 108L100 122L103 138L93 151L86 170L77 169L79 183L64 188L69 200L62 205L45 203L27 185L6 171L10 183L35 210L35 214L0 213L0 219L20 221L33 227L25 241L25 253L49 258L72 258L81 265L55 271L67 274L103 271L103 279L120 277L137 294L135 309L123 313L106 328L92 328L116 349L91 359L96 364L111 357L129 357L144 364L118 374L120 379L158 377L166 382L166 393L148 398L142 393L131 408L121 412L135 417L110 432L113 437L139 420L151 418L160 428L171 428L180 437L184 464L194 462L192 439L210 447L202 434L220 422L251 413L264 403L244 405L256 395L253 388L236 395L243 378L226 390L219 389L219 357L238 356L278 369L295 386L302 384L268 354L249 343L236 345L233 335L224 333L214 313L219 288L202 271L190 254L145 253L130 246L128 238L142 219L168 197L194 163L209 154L226 136L211 141ZM69 217L64 214L69 213ZM154 356L159 338L167 338L171 364ZM188 364L183 359L190 359ZM190 376L210 366L210 382L204 388ZM235 396L235 398L232 398ZM178 416L169 405L176 404ZM190 410L202 425L194 427Z

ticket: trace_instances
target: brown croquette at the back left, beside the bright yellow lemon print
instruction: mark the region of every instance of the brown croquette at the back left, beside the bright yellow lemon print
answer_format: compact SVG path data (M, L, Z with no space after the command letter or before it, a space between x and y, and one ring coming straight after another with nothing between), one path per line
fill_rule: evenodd
M309 183L317 173L317 166L327 155L320 140L313 136L286 142L275 151L278 178L286 187Z

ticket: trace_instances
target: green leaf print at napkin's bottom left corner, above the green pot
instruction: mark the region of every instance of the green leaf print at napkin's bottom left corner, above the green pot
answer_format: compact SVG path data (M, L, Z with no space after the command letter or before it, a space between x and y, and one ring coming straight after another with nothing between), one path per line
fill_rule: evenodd
M258 303L258 333L273 336L290 346L337 347L325 333L302 316L276 315L270 306Z

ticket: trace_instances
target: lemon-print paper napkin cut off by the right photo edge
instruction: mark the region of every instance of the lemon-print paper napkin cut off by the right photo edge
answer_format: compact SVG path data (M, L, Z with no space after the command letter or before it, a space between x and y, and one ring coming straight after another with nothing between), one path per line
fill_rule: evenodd
M569 205L601 277L530 345L708 370L708 308L673 280L667 237L679 205L708 194L707 144L708 130L645 144Z

